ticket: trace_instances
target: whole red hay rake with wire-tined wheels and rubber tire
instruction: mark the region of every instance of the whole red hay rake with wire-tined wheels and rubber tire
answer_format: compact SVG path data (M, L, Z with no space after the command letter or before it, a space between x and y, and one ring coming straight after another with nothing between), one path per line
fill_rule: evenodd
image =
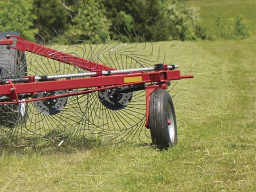
M141 139L150 130L158 148L175 145L177 123L165 90L170 81L193 75L181 76L177 65L150 66L154 61L134 50L138 44L110 42L98 51L89 44L84 59L76 54L82 43L68 52L2 33L0 137L62 143L67 136Z

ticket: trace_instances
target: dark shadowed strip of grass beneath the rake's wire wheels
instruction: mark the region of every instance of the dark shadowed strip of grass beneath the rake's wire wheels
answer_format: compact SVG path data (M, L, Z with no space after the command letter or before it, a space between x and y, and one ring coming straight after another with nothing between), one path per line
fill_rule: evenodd
M0 155L5 154L73 154L78 150L91 150L93 148L134 146L139 148L149 147L157 150L151 143L136 143L129 141L106 142L99 139L86 140L85 138L66 137L61 140L34 138L31 140L20 140L14 138L0 137Z

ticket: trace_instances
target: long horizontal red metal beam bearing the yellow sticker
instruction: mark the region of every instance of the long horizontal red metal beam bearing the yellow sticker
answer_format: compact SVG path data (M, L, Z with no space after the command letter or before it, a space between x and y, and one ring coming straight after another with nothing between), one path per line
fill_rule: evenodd
M152 73L137 73L137 74L123 74L123 75L110 75L110 76L99 76L90 78L77 78L77 79L66 79L59 81L45 81L45 82L31 82L31 83L19 83L15 84L17 94L21 93L33 93L33 92L43 92L43 91L57 91L57 90L70 90L79 89L86 87L99 87L99 86L109 86L109 85L122 85L124 83L124 78L126 77L142 77L142 82L166 82L171 80L180 79L180 71L166 71L167 77L169 79L163 79L159 74L162 71L155 71ZM138 82L133 82L138 83ZM11 94L12 86L10 84L0 85L1 95Z

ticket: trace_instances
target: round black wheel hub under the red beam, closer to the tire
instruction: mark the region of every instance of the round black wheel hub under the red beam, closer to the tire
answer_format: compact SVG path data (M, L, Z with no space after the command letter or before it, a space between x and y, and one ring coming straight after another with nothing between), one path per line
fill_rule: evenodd
M103 106L119 110L125 108L132 100L132 92L124 92L129 86L99 91L99 99Z

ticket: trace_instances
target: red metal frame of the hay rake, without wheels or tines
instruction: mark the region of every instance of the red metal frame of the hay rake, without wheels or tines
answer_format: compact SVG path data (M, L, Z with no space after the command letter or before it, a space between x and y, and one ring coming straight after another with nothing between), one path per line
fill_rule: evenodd
M15 46L13 46L14 41ZM6 49L34 53L47 59L56 60L89 71L88 73L67 75L2 78L0 79L0 105L20 105L20 103L35 101L52 102L56 98L126 87L120 92L127 93L146 90L145 126L149 127L150 95L155 90L167 89L170 81L194 77L193 75L182 76L179 70L174 70L179 68L179 66L163 63L156 64L154 67L118 70L98 62L75 57L72 54L26 41L25 38L16 35L6 35L6 39L0 40L0 45L5 45ZM74 91L75 89L84 90ZM38 98L38 93L61 90L68 91L62 94L45 95ZM170 122L167 123L170 124Z

